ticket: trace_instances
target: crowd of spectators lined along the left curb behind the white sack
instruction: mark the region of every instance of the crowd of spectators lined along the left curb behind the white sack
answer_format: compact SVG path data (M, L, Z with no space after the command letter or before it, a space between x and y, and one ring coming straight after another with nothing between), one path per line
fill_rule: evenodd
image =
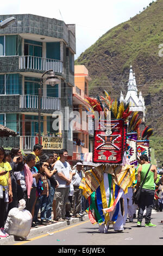
M0 238L8 236L5 221L21 199L32 214L32 227L86 214L89 205L79 188L83 163L71 167L67 157L66 149L43 154L40 144L26 156L21 149L0 147Z

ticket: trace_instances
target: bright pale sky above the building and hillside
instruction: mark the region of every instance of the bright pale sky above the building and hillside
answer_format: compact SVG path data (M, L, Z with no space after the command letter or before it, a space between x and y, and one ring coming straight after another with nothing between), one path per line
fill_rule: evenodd
M0 14L34 14L75 24L77 59L109 29L139 14L150 2L152 0L7 0L1 4Z

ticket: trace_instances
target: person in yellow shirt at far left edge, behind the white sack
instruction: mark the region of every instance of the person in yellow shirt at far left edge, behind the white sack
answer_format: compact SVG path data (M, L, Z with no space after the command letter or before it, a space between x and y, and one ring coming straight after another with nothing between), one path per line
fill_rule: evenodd
M8 234L4 231L4 222L7 218L7 205L12 200L12 187L10 164L5 161L4 148L0 147L0 237L6 237Z

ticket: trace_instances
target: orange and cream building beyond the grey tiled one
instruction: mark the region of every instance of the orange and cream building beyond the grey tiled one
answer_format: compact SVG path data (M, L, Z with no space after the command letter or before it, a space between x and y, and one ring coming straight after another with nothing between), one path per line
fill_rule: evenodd
M89 81L91 78L84 65L74 66L73 87L73 111L79 113L78 119L73 125L73 157L72 160L84 160L88 153L92 152L93 127L86 114L89 105L85 97L89 96ZM75 142L83 142L84 145L76 145Z

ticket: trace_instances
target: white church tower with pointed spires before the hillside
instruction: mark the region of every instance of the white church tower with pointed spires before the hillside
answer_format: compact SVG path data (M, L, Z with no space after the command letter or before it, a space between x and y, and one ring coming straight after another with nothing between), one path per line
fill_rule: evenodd
M135 74L133 74L133 67L130 66L129 81L128 81L128 91L124 99L123 93L121 92L120 101L126 103L130 102L130 111L139 111L142 112L142 121L145 121L145 100L142 97L142 93L137 94L137 86Z

